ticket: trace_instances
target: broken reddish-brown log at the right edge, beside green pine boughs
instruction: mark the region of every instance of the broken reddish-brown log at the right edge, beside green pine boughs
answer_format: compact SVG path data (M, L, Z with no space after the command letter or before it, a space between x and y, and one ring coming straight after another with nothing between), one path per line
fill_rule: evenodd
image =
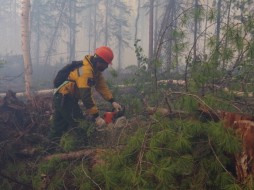
M211 110L200 106L202 114L213 121L222 121L225 128L231 128L242 141L242 150L234 155L237 179L246 181L254 176L254 116L243 113Z

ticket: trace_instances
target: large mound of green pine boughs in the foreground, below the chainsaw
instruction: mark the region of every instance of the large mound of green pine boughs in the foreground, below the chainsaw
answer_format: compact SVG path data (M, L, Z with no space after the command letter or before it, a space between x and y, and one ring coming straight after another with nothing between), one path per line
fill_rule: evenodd
M239 150L239 139L221 124L161 118L140 128L94 176L105 189L238 189L225 168Z

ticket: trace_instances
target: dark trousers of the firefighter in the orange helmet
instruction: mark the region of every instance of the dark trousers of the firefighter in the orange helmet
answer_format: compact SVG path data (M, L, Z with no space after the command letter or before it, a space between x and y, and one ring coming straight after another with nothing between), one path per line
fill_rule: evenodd
M50 131L50 138L61 137L78 125L78 121L84 119L82 110L78 105L78 101L70 95L62 95L56 93L53 98L54 115L53 126Z

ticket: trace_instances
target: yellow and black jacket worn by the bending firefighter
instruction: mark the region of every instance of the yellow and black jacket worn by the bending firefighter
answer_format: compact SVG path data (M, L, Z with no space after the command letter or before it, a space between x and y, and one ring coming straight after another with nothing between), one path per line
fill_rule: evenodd
M98 115L98 108L92 97L92 88L95 87L102 97L113 102L113 96L101 72L96 72L90 61L91 56L85 56L83 66L72 71L68 77L70 82L61 86L58 93L71 95L77 100L81 99L87 109L87 114Z

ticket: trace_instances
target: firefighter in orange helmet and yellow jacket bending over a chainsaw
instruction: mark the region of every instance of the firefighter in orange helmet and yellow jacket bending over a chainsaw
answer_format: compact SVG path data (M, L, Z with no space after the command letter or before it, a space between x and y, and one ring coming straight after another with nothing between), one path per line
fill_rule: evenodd
M54 94L53 127L50 137L61 137L68 129L76 126L77 121L89 115L97 128L105 126L105 120L99 115L99 110L92 97L94 87L102 97L112 104L115 110L121 110L121 105L115 101L109 90L102 72L112 64L113 51L102 46L95 50L94 55L86 55L83 65L73 70L68 76L68 82L61 85ZM82 100L86 108L85 114L78 101Z

